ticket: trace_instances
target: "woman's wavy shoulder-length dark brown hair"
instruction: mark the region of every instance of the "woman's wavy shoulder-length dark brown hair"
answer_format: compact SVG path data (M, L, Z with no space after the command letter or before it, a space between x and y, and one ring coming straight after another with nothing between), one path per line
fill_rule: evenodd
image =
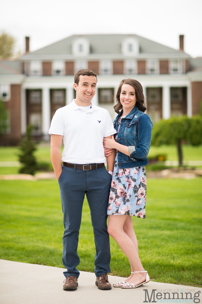
M140 111L145 112L147 108L145 106L142 85L141 85L141 83L139 83L139 81L137 81L135 79L131 79L131 78L121 80L120 85L119 85L118 90L117 90L117 93L116 93L117 104L114 105L114 111L116 113L119 113L120 110L123 109L123 106L121 105L121 102L120 102L120 94L121 94L121 87L124 84L126 84L126 85L132 85L134 87L134 89L135 89L135 96L136 96L136 100L137 100L136 101L137 108Z

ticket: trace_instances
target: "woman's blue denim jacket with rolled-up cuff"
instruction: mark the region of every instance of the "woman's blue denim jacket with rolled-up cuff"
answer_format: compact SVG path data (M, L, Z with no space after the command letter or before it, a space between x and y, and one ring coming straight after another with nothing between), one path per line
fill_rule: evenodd
M123 110L114 119L114 129L118 131L118 120ZM151 144L153 124L150 117L137 108L121 119L117 142L128 146L130 156L118 151L118 168L133 168L148 165L147 155ZM116 134L114 134L115 138Z

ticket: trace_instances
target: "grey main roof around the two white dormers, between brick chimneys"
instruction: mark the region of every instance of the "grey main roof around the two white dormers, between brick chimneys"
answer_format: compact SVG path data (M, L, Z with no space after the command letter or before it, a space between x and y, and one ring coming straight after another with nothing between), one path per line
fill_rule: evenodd
M63 40L55 42L47 47L43 47L32 53L25 54L21 57L21 60L37 59L43 56L51 55L69 55L72 56L71 45L72 42L77 38L85 38L90 43L90 54L89 56L95 55L122 55L121 54L121 43L124 39L135 38L139 41L140 53L144 54L156 54L165 56L176 56L176 57L188 57L190 56L182 51L172 49L171 47L164 46L160 43L152 40L143 38L137 35L73 35Z

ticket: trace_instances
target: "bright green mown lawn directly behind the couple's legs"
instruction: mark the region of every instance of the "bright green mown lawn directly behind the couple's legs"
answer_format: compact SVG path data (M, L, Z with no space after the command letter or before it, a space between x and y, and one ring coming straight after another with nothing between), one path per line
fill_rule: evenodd
M148 179L146 219L133 217L142 264L152 280L202 286L202 179ZM62 266L63 220L55 180L0 181L0 258ZM94 237L84 201L79 270L94 270ZM130 265L111 239L111 274Z

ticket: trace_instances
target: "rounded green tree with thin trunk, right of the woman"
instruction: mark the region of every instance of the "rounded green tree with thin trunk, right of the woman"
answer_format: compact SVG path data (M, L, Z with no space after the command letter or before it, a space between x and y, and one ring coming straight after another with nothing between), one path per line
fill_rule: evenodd
M192 146L199 146L202 143L201 116L172 117L154 125L151 144L154 146L177 145L179 166L182 166L183 160L182 141Z

